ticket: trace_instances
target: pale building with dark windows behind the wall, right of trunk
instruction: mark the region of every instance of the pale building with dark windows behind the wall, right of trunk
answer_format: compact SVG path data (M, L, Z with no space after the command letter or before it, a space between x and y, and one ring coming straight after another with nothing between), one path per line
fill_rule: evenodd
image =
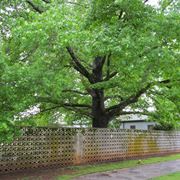
M147 121L147 116L145 115L121 116L121 129L151 130L155 125L155 122Z

